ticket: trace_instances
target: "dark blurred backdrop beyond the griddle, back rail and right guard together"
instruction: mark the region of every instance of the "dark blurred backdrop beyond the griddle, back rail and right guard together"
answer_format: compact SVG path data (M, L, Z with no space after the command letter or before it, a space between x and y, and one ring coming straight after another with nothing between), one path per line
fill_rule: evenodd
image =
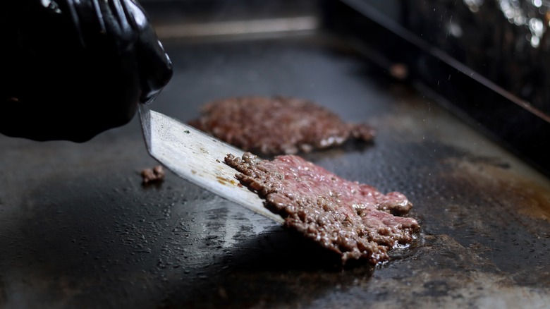
M142 0L161 40L333 32L549 173L550 1Z

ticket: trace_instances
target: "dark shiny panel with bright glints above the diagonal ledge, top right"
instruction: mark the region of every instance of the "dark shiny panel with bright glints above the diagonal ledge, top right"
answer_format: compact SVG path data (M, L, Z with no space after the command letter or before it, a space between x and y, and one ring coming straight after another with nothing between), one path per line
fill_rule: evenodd
M402 1L401 23L550 115L550 1Z

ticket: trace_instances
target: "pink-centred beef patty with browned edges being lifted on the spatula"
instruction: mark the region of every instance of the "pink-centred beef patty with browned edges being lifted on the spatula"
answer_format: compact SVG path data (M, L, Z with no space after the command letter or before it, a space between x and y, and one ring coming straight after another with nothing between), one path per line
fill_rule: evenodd
M347 260L377 264L388 251L407 246L420 229L407 214L405 195L386 195L372 186L346 181L295 155L262 160L247 152L228 154L226 164L236 177L265 199L265 206L285 219L284 225Z

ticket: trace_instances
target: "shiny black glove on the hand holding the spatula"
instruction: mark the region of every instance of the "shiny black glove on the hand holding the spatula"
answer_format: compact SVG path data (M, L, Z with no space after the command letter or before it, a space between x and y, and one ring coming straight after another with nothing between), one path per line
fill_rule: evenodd
M128 123L172 76L133 0L6 0L0 133L85 142Z

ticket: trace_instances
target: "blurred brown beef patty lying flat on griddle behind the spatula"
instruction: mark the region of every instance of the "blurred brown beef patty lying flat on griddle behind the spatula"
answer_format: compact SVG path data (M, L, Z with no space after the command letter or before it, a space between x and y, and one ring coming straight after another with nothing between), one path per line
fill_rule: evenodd
M256 154L295 154L366 142L374 129L344 123L333 112L305 99L235 97L205 104L202 116L189 124L226 143Z

